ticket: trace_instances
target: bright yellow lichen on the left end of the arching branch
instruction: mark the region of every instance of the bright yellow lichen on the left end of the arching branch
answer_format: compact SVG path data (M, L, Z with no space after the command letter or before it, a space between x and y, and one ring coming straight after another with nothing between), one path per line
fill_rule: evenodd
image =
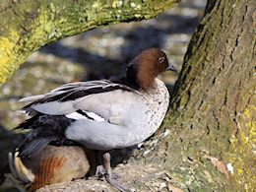
M28 26L28 29L33 29L30 33L30 39L23 37L16 31L10 31L6 36L0 36L0 84L6 82L7 78L23 63L29 54L35 50L35 44L44 44L49 37L53 38L58 33L54 30L54 13L56 11L51 6L51 13L47 10L40 9L40 13L34 21ZM20 41L20 43L18 43ZM25 43L24 43L25 42ZM21 44L23 46L21 47ZM23 52L19 54L19 52Z

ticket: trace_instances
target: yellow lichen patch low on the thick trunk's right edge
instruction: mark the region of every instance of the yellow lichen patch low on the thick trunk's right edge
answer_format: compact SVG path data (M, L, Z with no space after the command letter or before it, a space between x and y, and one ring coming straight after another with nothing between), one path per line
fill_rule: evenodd
M252 168L256 163L255 114L256 107L248 105L239 119L241 127L236 139L230 144L231 153L226 158L234 167L234 173L231 175L232 186L243 191L253 191L256 186L256 170Z

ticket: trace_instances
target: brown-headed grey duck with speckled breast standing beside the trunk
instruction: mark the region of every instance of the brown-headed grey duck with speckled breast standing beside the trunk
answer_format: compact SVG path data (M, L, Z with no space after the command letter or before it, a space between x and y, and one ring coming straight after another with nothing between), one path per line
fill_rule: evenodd
M112 176L109 151L142 143L159 129L169 103L158 79L165 71L176 69L160 48L148 48L129 62L125 78L69 83L20 99L30 102L22 110L32 117L16 127L31 130L19 157L34 156L47 145L83 145L101 153L96 172L127 191Z

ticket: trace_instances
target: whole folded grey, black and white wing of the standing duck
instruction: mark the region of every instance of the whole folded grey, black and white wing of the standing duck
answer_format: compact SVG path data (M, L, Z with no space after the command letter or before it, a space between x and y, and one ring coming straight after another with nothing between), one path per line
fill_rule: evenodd
M39 112L72 116L72 113L84 110L96 113L106 120L123 114L137 100L136 90L109 80L70 83L45 95L21 99L32 101L23 108L30 114Z

